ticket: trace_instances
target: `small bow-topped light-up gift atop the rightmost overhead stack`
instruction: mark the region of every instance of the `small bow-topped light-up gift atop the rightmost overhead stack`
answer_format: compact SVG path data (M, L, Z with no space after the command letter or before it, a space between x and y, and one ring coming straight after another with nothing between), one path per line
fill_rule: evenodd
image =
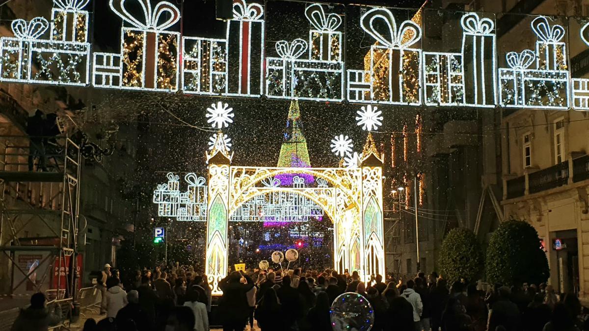
M532 31L537 35L536 66L544 70L566 70L567 52L564 38L564 28L561 25L548 23L545 16L538 16L532 21Z

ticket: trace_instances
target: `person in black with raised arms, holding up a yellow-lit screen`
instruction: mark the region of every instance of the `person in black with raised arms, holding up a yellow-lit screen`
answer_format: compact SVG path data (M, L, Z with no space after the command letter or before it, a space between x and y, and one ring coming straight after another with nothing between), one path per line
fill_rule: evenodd
M241 283L245 279L245 283ZM223 330L243 331L249 317L246 293L254 287L252 279L243 272L232 272L219 282L223 296L219 300L219 312L223 316Z

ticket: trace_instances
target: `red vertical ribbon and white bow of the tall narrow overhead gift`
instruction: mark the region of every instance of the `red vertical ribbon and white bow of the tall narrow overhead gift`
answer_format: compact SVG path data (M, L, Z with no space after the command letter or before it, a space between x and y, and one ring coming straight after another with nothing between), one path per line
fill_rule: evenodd
M247 4L245 0L233 0L233 21L241 21L241 86L250 93L250 22L262 18L264 9L259 4Z

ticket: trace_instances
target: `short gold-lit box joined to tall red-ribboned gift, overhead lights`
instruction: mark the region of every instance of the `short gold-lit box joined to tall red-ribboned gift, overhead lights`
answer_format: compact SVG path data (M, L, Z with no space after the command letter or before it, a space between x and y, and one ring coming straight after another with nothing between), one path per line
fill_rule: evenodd
M186 94L260 97L264 87L264 8L233 0L226 37L183 37ZM231 73L231 74L230 74Z

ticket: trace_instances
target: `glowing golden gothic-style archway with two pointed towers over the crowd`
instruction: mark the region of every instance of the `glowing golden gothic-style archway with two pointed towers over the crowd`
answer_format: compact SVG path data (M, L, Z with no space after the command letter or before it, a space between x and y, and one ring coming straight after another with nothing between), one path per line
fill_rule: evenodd
M207 154L209 194L205 269L213 294L221 293L219 281L227 275L227 231L231 214L260 194L279 191L301 194L330 216L336 270L358 270L362 279L373 273L384 273L382 159L371 136L364 150L362 164L353 168L239 167L231 166L232 155L224 146L223 134L218 133L213 150ZM272 184L274 177L293 173L317 178L317 187Z

